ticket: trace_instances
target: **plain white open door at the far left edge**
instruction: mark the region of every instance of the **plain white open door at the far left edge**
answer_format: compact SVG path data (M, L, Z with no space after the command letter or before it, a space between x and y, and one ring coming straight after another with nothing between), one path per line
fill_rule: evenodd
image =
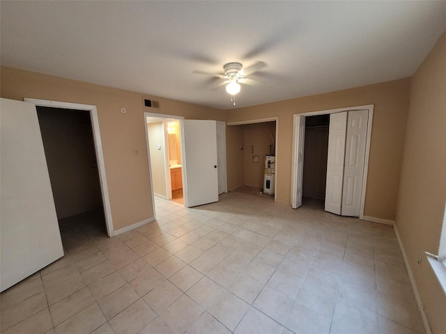
M36 106L1 99L0 291L63 256Z

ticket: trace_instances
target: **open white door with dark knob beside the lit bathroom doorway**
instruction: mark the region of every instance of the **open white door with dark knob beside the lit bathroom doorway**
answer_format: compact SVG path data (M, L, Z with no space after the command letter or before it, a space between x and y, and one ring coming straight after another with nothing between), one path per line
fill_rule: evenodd
M183 121L183 198L185 207L218 201L217 124Z

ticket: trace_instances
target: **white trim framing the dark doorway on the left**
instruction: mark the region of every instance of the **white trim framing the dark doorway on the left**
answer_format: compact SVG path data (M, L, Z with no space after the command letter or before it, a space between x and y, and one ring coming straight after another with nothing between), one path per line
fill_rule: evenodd
M107 177L105 175L105 161L104 161L104 154L102 152L102 142L100 139L98 111L96 109L96 106L93 106L90 104L77 104L77 103L70 103L70 102L29 99L27 97L24 98L24 101L36 104L36 106L49 106L52 108L76 109L76 110L85 110L85 111L90 112L91 125L93 127L93 139L94 139L95 150L96 150L96 159L98 160L100 188L102 191L102 203L104 205L105 225L107 227L108 236L112 237L114 235L112 207L110 205L109 189L107 186Z

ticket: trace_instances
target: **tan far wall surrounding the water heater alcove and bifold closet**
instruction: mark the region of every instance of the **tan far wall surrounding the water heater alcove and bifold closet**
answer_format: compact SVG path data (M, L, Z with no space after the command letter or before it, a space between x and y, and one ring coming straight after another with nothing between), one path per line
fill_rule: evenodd
M277 200L290 203L293 114L374 104L364 215L394 220L410 79L228 111L227 122L279 117ZM228 166L228 178L235 173ZM384 189L384 190L383 190Z

